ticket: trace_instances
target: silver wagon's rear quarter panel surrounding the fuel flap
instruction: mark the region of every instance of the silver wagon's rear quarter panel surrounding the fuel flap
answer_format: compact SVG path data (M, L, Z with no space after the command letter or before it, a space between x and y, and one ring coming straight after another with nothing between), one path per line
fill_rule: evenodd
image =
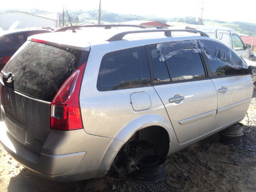
M97 77L103 55L107 52L125 49L131 46L134 47L135 45L131 44L131 42L122 42L122 44L110 42L101 48L94 48L97 45L92 46L80 91L80 106L84 131L89 134L115 138L130 122L149 114L159 114L169 122L164 105L153 87L114 91L97 90ZM140 92L148 94L151 104L148 109L136 111L132 105L131 95ZM144 118L144 127L147 123L152 125L152 122L157 124L157 121L154 119ZM134 124L134 126L138 126L134 128L135 130L141 129L141 124ZM172 127L169 127L169 129L172 129ZM134 130L131 132L134 132Z

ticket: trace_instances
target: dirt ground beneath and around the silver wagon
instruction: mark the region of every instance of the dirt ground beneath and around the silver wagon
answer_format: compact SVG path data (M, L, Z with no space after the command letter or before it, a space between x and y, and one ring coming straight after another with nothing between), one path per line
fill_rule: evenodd
M128 176L56 183L33 176L0 145L0 191L256 191L255 92L242 121L240 145L219 142L215 134L168 157L165 178L156 184L139 184Z

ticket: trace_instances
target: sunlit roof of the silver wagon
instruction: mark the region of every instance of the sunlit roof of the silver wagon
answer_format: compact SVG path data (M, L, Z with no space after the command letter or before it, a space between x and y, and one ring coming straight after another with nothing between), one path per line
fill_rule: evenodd
M116 27L111 29L104 29L99 27L90 27L81 30L68 30L65 32L53 32L33 35L28 40L37 39L47 42L47 45L53 46L71 46L73 48L87 48L89 50L92 44L105 44L111 41L120 40L151 40L162 38L166 41L166 37L172 37L174 32L187 32L187 36L194 36L199 33L199 36L208 37L207 34L197 30L169 30L169 29L141 29L129 27ZM182 35L184 37L184 35ZM186 38L185 37L185 38ZM194 37L195 38L195 37ZM198 36L196 37L198 38ZM162 40L162 41L164 41ZM32 40L35 41L35 40ZM155 40L157 42L157 40Z

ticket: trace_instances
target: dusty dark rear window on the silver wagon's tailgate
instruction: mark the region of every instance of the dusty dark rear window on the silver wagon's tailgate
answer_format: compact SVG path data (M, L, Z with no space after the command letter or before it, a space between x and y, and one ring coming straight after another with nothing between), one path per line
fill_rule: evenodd
M63 82L81 64L80 58L81 51L27 41L3 71L14 74L15 91L52 101Z

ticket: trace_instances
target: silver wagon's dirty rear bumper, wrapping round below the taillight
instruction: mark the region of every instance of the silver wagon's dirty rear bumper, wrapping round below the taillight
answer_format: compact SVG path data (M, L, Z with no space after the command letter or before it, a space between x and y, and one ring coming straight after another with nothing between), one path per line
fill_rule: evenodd
M32 170L37 176L63 182L100 178L107 173L110 165L105 167L100 165L102 157L113 139L91 136L83 130L78 131L80 135L86 137L82 140L81 138L74 140L74 138L67 136L67 134L71 135L70 132L63 132L66 136L57 139L55 137L56 132L53 131L49 135L41 154L37 155L13 139L6 131L5 124L0 122L0 142L5 150L24 167ZM99 141L97 145L94 145L92 142L88 143L92 137L95 143ZM70 140L73 140L73 142L71 143ZM80 147L77 142L80 142ZM87 144L84 142L87 142ZM87 153L86 150L81 150L81 146L83 146L83 149L87 148L90 153ZM66 148L67 150L65 151ZM77 150L79 152L71 153L71 148L74 151L79 148Z

